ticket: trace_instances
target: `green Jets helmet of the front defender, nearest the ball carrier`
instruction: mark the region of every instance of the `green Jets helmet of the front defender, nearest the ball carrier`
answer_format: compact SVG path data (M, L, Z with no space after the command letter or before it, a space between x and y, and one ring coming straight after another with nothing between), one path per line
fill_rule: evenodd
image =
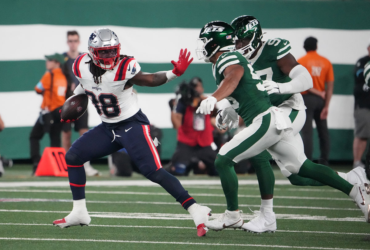
M207 23L199 34L197 40L196 56L199 60L209 59L218 51L230 51L235 48L234 29L223 21Z

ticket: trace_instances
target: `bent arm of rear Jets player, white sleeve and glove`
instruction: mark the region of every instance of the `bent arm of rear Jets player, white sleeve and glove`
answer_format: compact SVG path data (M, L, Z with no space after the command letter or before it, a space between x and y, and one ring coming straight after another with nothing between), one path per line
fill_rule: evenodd
M290 53L277 60L280 70L292 80L287 83L263 81L263 87L269 94L295 94L313 87L312 77L308 70L300 65Z

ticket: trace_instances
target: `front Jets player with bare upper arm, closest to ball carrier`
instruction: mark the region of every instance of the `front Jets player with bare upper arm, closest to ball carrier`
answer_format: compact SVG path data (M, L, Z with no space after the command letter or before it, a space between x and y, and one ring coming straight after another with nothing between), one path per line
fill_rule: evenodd
M246 128L223 145L216 157L227 210L205 226L213 230L243 225L242 211L238 207L238 179L235 163L249 159L268 149L290 173L312 178L349 195L359 205L367 222L370 221L370 187L352 185L332 169L308 160L300 142L292 133L292 122L283 109L272 106L262 80L238 51L229 51L233 45L233 28L225 22L206 24L199 34L198 59L212 63L217 90L203 100L197 113L209 114L217 101L226 98L232 109L221 111L216 118L222 126L234 123L235 113L245 122ZM233 113L234 112L234 113ZM220 125L219 125L220 126ZM220 126L221 127L221 126ZM319 174L317 174L319 173Z

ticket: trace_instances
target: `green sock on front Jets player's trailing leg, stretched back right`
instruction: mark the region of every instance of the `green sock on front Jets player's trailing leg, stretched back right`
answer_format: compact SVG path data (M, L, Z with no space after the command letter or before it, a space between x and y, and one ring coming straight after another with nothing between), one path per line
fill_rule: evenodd
M349 195L353 185L337 175L330 167L313 163L307 159L298 172L299 176L314 179Z

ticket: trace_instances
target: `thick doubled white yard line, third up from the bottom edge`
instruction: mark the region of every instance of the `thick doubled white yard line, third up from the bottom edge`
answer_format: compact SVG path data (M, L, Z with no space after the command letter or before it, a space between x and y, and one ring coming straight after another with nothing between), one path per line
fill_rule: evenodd
M0 212L22 212L22 213L64 213L70 211L43 211L43 210L18 210L18 209L0 209ZM123 212L91 212L90 217L99 218L116 218L116 219L159 219L159 220L192 220L190 214L166 214L166 213L123 213ZM212 213L212 218L221 216L221 213ZM283 220L320 220L320 221L353 221L364 223L362 216L359 217L344 217L332 218L327 216L311 216L308 214L277 214L276 219ZM253 214L243 214L243 219L252 220Z

